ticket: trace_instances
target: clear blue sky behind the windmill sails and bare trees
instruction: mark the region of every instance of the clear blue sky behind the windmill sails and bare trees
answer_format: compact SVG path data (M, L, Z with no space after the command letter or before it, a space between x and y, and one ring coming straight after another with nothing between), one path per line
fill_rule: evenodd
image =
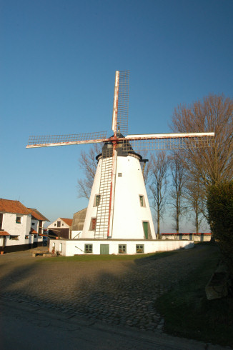
M0 197L51 221L86 206L88 146L25 147L111 134L116 70L130 71L129 134L169 132L175 106L209 93L232 98L232 15L232 0L1 0Z

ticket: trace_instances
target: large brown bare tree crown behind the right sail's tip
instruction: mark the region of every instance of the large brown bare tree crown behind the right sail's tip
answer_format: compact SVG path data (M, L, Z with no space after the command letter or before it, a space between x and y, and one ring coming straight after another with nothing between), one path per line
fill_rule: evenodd
M204 97L190 106L180 105L174 109L172 130L174 132L214 131L214 147L186 149L180 152L183 166L190 176L199 174L207 187L233 176L233 100L224 95Z

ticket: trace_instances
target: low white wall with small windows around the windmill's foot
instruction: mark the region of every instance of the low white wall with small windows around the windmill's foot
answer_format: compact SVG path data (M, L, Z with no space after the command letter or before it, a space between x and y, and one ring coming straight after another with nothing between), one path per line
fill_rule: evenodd
M86 244L91 253L86 253ZM120 247L119 247L120 246ZM114 240L114 239L51 239L49 251L59 252L64 256L76 254L139 254L155 253L157 251L172 251L194 247L194 241L169 240ZM105 251L105 252L103 252ZM107 252L106 252L107 251Z

